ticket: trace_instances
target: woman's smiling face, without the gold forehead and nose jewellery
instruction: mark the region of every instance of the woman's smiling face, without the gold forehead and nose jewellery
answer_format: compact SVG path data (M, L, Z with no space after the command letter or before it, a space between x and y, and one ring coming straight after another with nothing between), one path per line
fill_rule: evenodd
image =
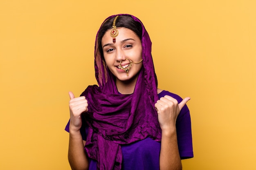
M130 64L129 60L132 62L140 62L142 58L141 40L130 29L121 27L117 28L117 30L119 33L115 43L113 43L113 38L110 36L110 30L103 36L101 40L103 55L109 70L117 77L116 81L128 81L135 77L137 78L142 67L142 62L132 64L127 76L126 72L119 68L120 61L122 61L121 65L123 67ZM129 60L126 60L126 58Z

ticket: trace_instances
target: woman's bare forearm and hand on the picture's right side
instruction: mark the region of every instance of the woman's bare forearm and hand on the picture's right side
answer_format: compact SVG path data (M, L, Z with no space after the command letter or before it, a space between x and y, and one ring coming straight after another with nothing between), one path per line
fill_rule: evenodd
M158 121L162 129L160 170L182 170L177 144L176 119L189 99L187 97L178 104L176 99L166 95L161 97L155 104Z

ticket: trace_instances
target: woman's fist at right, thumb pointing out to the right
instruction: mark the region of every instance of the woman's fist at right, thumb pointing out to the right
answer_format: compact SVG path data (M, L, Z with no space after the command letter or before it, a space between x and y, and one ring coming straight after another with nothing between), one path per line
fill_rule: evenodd
M176 99L168 95L157 100L155 108L157 110L158 121L162 131L170 131L176 128L177 116L189 100L190 97L186 97L182 102L180 102L180 104L178 104Z

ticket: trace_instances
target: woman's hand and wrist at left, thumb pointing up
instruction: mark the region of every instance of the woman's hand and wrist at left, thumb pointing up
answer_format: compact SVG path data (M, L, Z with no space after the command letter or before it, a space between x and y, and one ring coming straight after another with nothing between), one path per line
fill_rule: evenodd
M81 114L88 111L88 101L84 96L75 97L70 91L70 131L79 131L82 126Z

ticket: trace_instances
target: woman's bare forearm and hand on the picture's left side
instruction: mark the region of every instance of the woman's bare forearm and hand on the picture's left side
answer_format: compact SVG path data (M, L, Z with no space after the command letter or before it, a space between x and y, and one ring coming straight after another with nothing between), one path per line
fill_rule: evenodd
M68 147L68 160L72 170L88 170L88 157L84 150L85 141L80 132L82 126L81 114L88 111L88 102L84 96L70 95L70 140Z

